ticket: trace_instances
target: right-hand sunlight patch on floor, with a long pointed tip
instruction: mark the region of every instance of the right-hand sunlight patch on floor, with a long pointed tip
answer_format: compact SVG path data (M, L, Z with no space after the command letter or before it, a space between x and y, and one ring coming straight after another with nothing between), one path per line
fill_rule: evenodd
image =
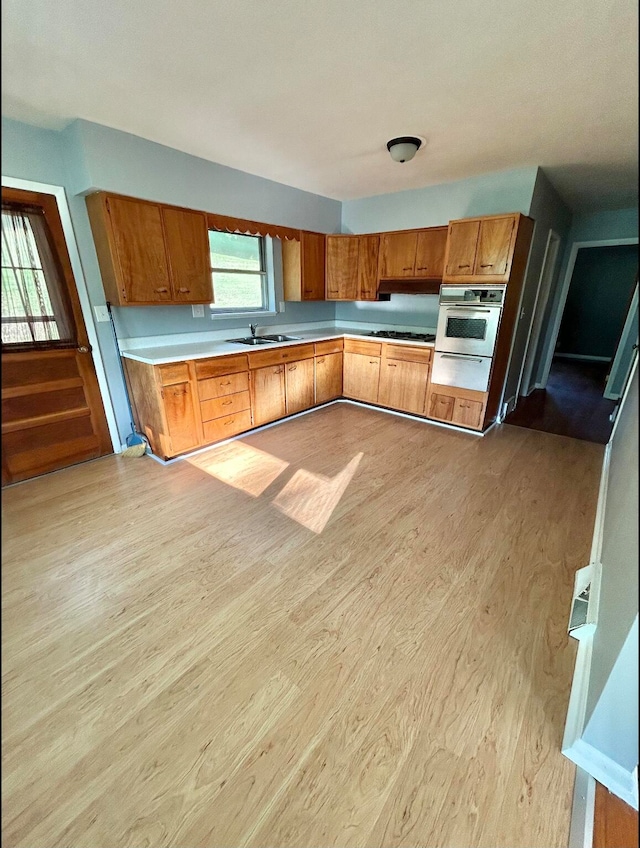
M322 533L363 456L356 454L335 477L313 474L301 468L274 498L273 505L303 527Z

